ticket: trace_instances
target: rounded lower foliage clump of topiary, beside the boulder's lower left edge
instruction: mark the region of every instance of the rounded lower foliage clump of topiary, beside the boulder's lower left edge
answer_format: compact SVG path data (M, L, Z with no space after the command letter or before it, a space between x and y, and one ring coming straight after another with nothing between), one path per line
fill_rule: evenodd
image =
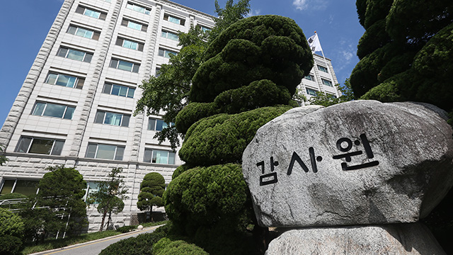
M164 193L168 217L185 231L220 225L225 232L245 229L248 216L248 188L241 166L223 164L189 169L171 181Z

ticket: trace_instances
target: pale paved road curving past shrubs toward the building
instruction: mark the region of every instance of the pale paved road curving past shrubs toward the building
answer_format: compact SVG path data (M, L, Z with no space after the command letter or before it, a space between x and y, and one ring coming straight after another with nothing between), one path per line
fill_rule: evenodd
M126 234L119 234L114 237L106 237L103 239L98 239L94 240L91 242L86 242L83 244L75 244L71 246L67 246L64 248L59 248L59 249L53 249L50 251L42 251L38 252L32 255L44 255L44 254L56 254L56 255L98 255L102 249L105 249L105 247L109 246L110 244L113 244L115 242L118 242L122 239L127 239L130 237L137 237L139 234L144 234L144 233L151 233L154 232L154 230L159 227L147 227L142 230L135 230L134 232L126 233Z

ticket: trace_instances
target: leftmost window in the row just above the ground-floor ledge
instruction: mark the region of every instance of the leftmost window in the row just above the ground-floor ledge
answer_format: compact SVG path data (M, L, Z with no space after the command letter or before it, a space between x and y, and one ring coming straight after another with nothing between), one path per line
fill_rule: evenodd
M59 155L62 154L63 145L64 140L21 137L14 152Z

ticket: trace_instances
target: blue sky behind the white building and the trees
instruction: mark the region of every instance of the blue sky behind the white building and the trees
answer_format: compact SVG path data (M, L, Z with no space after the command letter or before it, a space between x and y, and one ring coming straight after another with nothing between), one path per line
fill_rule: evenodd
M214 0L173 0L214 15ZM19 89L57 16L62 0L2 1L0 11L0 123L3 125ZM226 0L219 0L224 6ZM275 4L278 3L278 4ZM358 62L357 43L364 33L355 0L251 0L250 15L275 14L294 19L306 38L319 35L343 84Z

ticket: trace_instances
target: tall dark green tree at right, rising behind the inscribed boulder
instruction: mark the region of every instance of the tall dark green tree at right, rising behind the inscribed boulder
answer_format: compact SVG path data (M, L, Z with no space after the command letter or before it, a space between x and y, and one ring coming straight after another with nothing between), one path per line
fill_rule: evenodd
M420 101L449 111L453 123L453 2L357 0L365 33L350 83L355 96L382 102ZM447 251L453 190L424 220Z

